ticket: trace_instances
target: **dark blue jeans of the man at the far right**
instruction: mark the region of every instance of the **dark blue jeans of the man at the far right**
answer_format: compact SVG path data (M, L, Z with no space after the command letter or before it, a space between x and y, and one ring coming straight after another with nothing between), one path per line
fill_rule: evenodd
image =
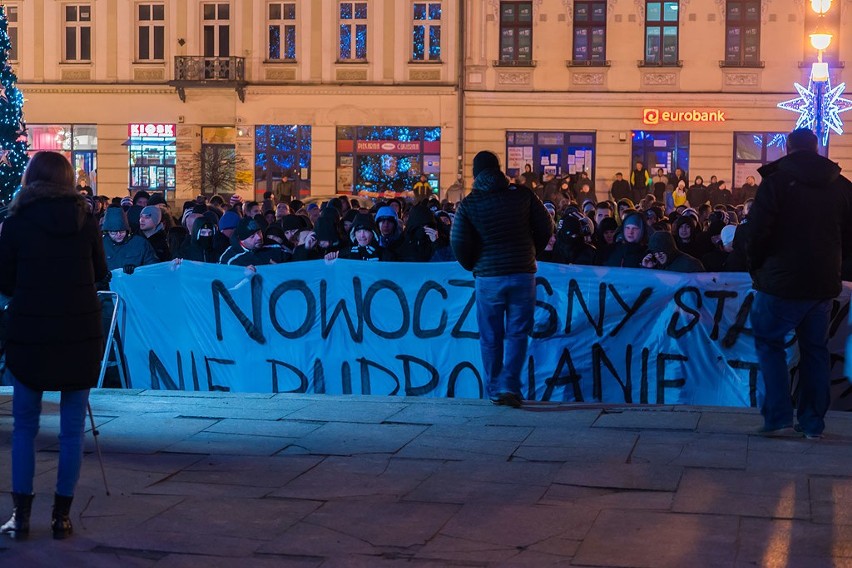
M754 345L766 392L760 407L767 429L793 424L790 373L784 344L795 330L799 342L799 399L796 418L802 431L821 434L831 403L828 327L831 300L788 300L756 292L751 308Z

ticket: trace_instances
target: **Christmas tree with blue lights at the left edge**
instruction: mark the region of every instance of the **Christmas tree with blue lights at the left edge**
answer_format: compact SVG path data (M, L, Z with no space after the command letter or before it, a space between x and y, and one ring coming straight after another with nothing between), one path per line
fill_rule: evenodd
M18 78L9 65L8 27L6 8L0 5L0 205L8 204L18 191L29 160L24 95L15 86Z

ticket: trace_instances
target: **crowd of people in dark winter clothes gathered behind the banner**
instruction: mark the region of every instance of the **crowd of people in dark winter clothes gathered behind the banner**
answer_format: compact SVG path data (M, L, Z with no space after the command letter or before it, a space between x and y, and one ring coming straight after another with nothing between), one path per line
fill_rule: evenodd
M543 262L680 272L745 271L738 236L757 186L749 177L734 192L724 181L647 172L636 164L617 173L598 200L585 172L571 178L538 176L528 166L509 183L544 203L556 231ZM160 193L108 199L82 192L103 231L110 270L185 259L256 267L301 260L453 261L450 232L456 204L436 197L419 202L378 200L369 209L355 199L325 203L279 202L272 192L245 201L239 195L198 196L180 209ZM101 288L107 287L106 282Z

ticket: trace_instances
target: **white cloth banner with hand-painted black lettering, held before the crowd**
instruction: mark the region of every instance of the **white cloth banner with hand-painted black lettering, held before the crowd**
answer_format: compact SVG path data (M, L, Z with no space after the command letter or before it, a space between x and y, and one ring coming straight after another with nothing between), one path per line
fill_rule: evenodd
M746 274L541 263L527 399L755 406ZM474 280L455 263L337 260L114 272L132 386L480 398ZM850 285L831 326L834 408ZM791 340L791 372L796 351Z

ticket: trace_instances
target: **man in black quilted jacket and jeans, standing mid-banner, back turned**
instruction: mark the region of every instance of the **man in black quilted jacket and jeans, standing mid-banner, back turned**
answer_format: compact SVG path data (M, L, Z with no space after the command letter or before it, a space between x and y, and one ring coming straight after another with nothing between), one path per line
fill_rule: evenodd
M473 191L459 204L450 240L459 264L476 278L479 345L491 402L518 408L535 311L535 257L547 245L553 221L532 191L509 185L493 153L474 157L473 176Z

